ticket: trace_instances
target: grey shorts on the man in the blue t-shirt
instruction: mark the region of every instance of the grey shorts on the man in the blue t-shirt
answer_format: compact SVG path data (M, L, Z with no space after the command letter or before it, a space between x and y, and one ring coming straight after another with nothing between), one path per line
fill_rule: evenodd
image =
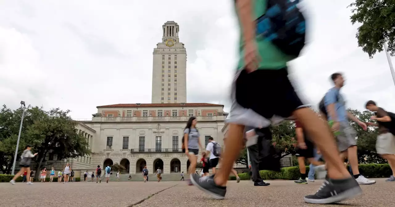
M357 145L357 132L347 122L340 122L340 134L336 136L337 147L340 152L346 151L349 147Z

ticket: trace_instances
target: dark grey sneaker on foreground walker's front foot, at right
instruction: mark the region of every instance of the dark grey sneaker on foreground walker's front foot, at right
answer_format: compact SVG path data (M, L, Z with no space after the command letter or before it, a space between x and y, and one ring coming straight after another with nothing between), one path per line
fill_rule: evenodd
M314 195L305 196L306 203L328 204L352 198L362 194L362 189L353 177L347 179L324 181Z

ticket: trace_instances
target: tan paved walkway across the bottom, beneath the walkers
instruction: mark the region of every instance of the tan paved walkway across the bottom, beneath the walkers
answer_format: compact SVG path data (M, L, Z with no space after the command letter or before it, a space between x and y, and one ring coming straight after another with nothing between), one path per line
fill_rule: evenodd
M110 183L0 183L0 206L73 206L73 207L389 207L393 206L395 183L376 179L363 185L364 194L337 205L304 203L303 196L313 194L322 181L297 185L293 181L269 181L270 186L253 186L251 181L230 181L225 200L213 200L187 182L110 182Z

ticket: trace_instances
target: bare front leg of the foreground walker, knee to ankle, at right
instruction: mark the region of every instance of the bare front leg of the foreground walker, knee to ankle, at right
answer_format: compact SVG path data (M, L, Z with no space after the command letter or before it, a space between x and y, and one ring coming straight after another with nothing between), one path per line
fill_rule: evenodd
M327 164L328 177L349 178L350 173L347 172L340 159L339 150L327 123L319 119L318 115L309 108L297 109L293 115L302 123L303 128L311 135L314 144L321 150Z

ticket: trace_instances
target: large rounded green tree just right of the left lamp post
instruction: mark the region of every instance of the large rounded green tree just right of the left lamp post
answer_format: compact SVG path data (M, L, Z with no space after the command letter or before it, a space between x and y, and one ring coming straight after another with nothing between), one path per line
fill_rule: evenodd
M27 129L27 143L33 145L33 151L38 152L36 172L47 163L47 156L56 157L53 162L65 158L76 158L90 153L85 137L77 131L77 122L68 115L70 110L51 109L48 112L41 108L33 108L32 113L40 113ZM38 178L36 173L35 179Z

